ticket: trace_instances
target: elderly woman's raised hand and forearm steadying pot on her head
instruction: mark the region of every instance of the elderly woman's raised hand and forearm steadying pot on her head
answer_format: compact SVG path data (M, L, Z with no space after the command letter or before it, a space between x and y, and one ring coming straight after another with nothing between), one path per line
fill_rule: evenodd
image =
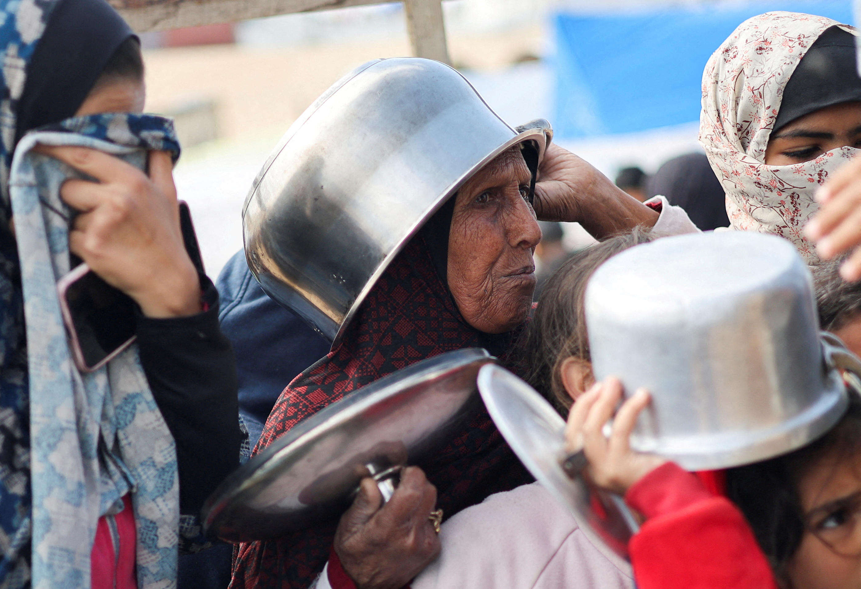
M658 220L657 212L556 144L548 146L538 169L533 206L540 220L577 221L598 239Z

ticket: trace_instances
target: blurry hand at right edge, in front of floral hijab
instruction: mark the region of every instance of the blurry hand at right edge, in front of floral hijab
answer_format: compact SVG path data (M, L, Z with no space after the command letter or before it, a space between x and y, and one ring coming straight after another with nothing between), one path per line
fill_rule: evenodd
M820 212L804 227L816 253L829 260L854 250L840 267L844 279L861 279L861 157L846 163L816 192Z

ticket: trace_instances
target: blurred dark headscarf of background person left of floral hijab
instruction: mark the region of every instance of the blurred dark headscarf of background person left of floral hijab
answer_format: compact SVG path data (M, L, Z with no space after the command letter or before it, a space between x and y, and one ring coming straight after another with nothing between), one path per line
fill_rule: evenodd
M728 227L726 196L703 153L688 153L664 163L647 183L649 197L666 196L681 206L700 230Z

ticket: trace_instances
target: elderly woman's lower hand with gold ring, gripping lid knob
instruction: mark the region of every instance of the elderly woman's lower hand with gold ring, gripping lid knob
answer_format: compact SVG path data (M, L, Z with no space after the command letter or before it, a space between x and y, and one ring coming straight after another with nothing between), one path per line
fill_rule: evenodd
M335 532L335 552L359 589L400 589L431 563L440 550L428 516L437 504L437 488L414 466L400 475L392 499L371 478Z

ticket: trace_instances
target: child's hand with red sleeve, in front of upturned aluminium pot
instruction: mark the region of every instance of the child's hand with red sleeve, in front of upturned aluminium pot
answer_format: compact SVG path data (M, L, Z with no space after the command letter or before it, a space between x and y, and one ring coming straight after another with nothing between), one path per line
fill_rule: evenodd
M651 400L645 389L623 402L613 420L610 438L604 437L604 424L613 417L621 399L622 383L618 378L596 383L574 403L568 414L565 437L572 450L583 448L592 481L598 487L623 495L643 476L666 463L666 459L633 451L629 445L637 417Z

